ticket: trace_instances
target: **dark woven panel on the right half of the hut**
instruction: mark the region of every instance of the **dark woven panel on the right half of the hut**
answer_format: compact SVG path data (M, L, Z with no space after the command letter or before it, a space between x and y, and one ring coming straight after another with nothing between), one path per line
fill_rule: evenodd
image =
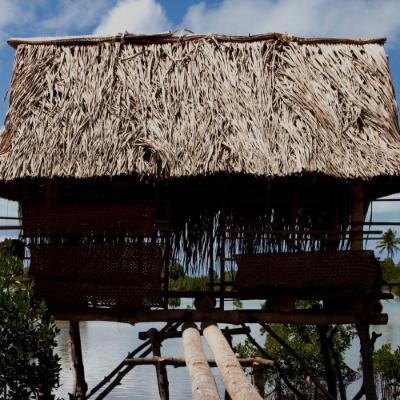
M379 288L381 271L372 251L284 253L236 257L238 290Z

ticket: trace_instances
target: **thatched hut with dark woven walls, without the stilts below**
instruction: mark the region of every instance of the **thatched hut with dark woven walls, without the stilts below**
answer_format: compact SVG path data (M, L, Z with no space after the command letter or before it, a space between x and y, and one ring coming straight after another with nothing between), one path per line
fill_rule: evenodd
M363 250L400 189L384 39L10 39L0 194L69 320L384 323ZM209 277L171 290L170 265ZM362 277L362 279L360 279ZM170 297L196 298L172 310ZM227 298L266 308L225 310ZM322 301L297 310L296 301Z

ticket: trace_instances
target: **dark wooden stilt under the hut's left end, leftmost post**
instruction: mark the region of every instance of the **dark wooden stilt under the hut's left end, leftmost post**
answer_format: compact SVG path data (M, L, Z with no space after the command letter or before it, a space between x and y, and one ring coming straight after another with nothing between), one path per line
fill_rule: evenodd
M74 387L72 390L72 398L76 400L84 400L86 398L88 386L85 381L85 369L83 366L79 322L70 321L69 338L72 372L74 374Z

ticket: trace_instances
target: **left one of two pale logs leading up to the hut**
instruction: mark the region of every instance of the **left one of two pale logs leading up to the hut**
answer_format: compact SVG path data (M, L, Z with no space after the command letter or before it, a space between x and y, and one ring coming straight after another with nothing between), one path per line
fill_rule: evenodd
M196 325L186 323L182 331L183 353L192 381L193 400L219 400L217 385L201 347Z

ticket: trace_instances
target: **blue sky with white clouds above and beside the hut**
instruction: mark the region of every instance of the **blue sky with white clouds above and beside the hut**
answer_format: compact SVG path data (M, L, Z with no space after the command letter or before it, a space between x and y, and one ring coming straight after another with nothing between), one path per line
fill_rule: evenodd
M400 0L0 0L0 127L14 58L6 43L9 37L184 28L194 33L386 37L395 91L400 93ZM0 212L16 209L0 202ZM400 220L400 203L375 203L374 219Z

